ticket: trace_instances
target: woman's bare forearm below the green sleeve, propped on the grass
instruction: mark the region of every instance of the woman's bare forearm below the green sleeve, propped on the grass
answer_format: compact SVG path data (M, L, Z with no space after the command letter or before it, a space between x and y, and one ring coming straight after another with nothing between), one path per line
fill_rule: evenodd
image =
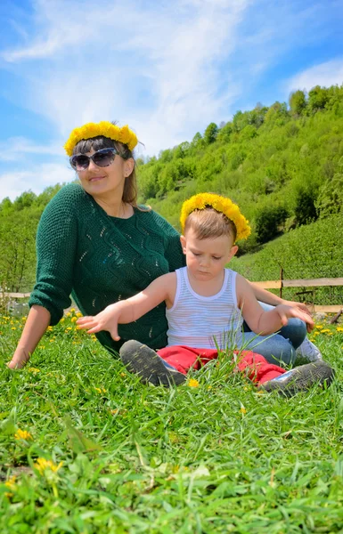
M32 306L12 360L7 364L8 368L18 369L24 367L49 324L50 313L42 306Z

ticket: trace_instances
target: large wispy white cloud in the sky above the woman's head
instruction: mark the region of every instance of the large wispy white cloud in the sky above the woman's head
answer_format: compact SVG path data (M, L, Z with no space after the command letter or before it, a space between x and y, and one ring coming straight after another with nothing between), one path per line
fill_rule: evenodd
M118 119L154 154L227 117L240 85L220 67L249 0L36 4L37 37L3 59L25 78L24 105L57 136Z

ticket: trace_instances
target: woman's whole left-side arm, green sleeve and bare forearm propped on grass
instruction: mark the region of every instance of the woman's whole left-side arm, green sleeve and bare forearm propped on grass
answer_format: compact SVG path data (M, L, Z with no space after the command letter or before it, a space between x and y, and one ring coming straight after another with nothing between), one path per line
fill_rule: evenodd
M65 186L42 214L37 229L37 281L29 298L28 320L9 368L25 365L46 328L58 323L70 304L78 241L78 197L75 184Z

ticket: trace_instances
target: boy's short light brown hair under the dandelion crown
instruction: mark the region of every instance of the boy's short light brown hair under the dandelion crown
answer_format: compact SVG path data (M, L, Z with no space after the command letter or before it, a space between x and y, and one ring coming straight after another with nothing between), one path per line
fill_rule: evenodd
M225 214L217 212L212 206L205 209L195 209L188 215L184 224L184 234L188 230L195 232L197 239L214 239L221 236L228 236L233 239L237 237L237 229L233 221Z

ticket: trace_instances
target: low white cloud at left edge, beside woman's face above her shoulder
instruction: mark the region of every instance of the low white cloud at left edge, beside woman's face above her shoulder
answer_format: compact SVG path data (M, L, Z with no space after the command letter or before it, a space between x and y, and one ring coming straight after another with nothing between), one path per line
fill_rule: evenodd
M34 170L29 171L10 171L0 174L0 200L5 197L14 200L23 191L29 190L39 194L50 185L71 182L74 179L75 174L67 165L54 163L36 165Z

